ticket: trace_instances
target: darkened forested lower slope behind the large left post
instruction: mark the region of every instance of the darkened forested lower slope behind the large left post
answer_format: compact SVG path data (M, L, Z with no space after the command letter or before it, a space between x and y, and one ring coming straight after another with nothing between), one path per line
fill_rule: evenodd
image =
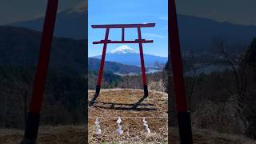
M34 66L0 66L0 128L24 129ZM82 124L86 80L50 69L42 107L42 125Z

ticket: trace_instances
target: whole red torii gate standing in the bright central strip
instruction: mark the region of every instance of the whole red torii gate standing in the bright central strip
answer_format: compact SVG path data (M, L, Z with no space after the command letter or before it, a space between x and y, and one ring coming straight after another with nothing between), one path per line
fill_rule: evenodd
M143 57L143 49L142 49L142 43L153 43L153 40L146 40L142 39L142 32L141 28L142 27L154 27L155 23L146 23L146 24L115 24L115 25L92 25L93 29L106 29L106 34L105 34L105 39L98 41L98 42L93 42L93 44L103 44L103 50L102 50L102 60L101 60L101 65L100 69L98 72L98 82L96 86L96 93L94 94L94 98L90 101L89 106L93 106L94 102L98 98L98 95L101 90L101 84L102 84L102 74L103 74L103 69L104 69L104 63L105 63L105 57L106 57L106 46L108 43L138 43L139 46L139 53L140 53L140 58L141 58L141 65L142 65L142 83L143 83L143 88L144 88L144 97L146 98L148 96L148 88L146 85L146 70L145 70L145 64L144 64L144 57ZM121 41L112 41L109 39L109 34L110 34L110 28L112 29L122 29L122 40ZM125 29L126 28L137 28L138 30L138 39L127 41L125 40Z

